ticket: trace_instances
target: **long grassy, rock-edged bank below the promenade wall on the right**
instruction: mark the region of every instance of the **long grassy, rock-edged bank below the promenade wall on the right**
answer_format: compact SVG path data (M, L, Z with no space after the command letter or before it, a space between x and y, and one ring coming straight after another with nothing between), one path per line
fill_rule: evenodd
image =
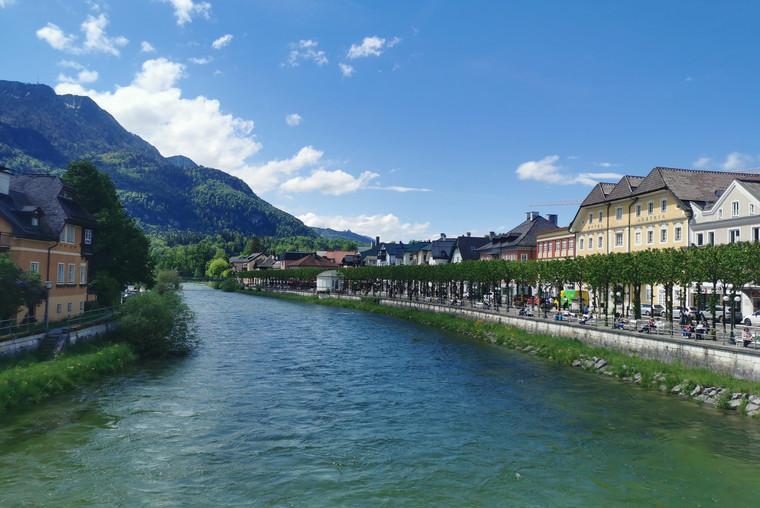
M375 312L405 319L421 325L433 326L478 340L520 350L556 363L617 378L645 388L679 395L684 398L692 398L698 402L712 404L723 409L735 409L742 413L749 410L753 416L760 416L760 411L755 408L758 405L756 402L760 402L760 397L756 397L760 395L760 383L736 379L709 369L687 367L680 363L664 363L648 360L612 349L589 346L576 339L532 334L519 328L498 323L474 321L450 314L380 305L372 299L320 299L314 296L263 291L241 292L295 302L308 302L331 307ZM708 390L712 388L717 389L717 393L706 395L712 393L712 390ZM739 397L735 394L742 395ZM751 396L752 398L750 398Z

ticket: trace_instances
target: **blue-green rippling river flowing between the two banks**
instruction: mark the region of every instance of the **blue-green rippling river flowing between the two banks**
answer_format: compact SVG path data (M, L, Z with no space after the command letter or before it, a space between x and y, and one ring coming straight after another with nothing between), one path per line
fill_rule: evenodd
M760 423L357 311L187 286L203 340L0 420L0 506L758 506Z

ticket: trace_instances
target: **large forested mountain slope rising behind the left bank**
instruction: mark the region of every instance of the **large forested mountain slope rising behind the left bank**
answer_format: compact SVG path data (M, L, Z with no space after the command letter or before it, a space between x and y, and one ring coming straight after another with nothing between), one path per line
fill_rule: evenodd
M161 156L89 97L0 81L0 164L19 173L60 173L76 159L92 160L110 175L147 230L314 236L239 178L187 157Z

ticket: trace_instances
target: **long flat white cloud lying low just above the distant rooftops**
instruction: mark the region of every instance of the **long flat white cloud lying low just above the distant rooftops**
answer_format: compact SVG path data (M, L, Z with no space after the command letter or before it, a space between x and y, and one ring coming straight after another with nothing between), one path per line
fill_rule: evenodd
M299 215L304 224L320 228L332 228L337 231L350 229L367 236L380 236L388 240L411 240L425 238L429 235L429 222L402 222L392 213L377 215L317 215L308 212Z

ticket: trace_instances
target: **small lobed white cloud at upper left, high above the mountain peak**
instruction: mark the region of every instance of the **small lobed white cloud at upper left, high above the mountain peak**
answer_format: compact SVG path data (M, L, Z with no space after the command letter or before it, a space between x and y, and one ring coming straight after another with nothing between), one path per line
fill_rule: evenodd
M109 37L106 34L107 26L108 18L105 14L87 16L80 26L82 33L84 33L84 42L81 46L77 44L75 35L65 33L54 23L48 23L40 28L36 35L38 39L47 42L50 47L58 51L73 54L106 53L119 56L120 48L126 46L129 40L121 35Z

